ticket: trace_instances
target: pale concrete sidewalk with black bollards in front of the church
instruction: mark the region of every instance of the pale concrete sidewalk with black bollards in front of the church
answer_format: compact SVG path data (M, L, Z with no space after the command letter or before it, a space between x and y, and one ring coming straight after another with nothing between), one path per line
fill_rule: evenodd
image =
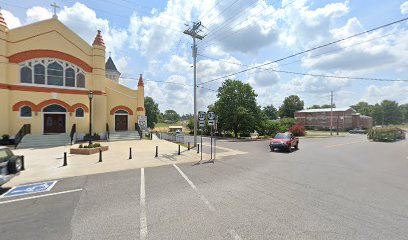
M181 146L181 155L177 155L178 144L164 140L132 140L117 142L101 142L103 146L109 146L109 150L103 152L103 162L99 163L99 154L71 155L71 146L39 148L39 149L16 149L16 155L25 156L25 171L13 178L3 187L12 187L25 183L90 175L105 172L114 172L128 169L157 167L174 163L198 162L200 154L196 149ZM75 147L78 144L74 145ZM155 157L156 146L159 147L159 156ZM132 159L129 160L129 148L132 147ZM217 160L225 156L245 154L228 148L222 148L223 152L217 154ZM64 152L68 155L68 166L62 167ZM203 160L209 160L209 154L203 153Z

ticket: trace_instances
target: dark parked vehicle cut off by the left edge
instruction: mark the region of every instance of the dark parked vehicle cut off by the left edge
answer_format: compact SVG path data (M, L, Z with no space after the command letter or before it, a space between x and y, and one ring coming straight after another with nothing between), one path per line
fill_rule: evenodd
M20 174L22 168L22 156L14 155L8 147L0 146L0 186Z

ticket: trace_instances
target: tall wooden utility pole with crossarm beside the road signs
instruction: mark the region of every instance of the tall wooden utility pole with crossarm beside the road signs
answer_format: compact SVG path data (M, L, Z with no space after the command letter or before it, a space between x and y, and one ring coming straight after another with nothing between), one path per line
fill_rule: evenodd
M194 147L197 146L197 44L196 38L203 40L204 36L198 34L201 22L196 22L193 26L184 31L193 38L193 59L194 59Z

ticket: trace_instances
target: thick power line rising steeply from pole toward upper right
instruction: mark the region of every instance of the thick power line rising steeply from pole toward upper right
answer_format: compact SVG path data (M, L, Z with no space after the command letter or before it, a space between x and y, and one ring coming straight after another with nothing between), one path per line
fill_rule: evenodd
M215 78L215 79L212 79L212 80L203 82L203 83L201 83L201 85L202 85L202 84L209 83L209 82L217 81L217 80L220 80L220 79L224 79L224 78L227 78L227 77L231 77L231 76L234 76L234 75L236 75L236 74L243 73L243 72L247 72L247 71L250 71L250 70L253 70L253 69L256 69L256 68L260 68L260 67L263 67L263 66L266 66L266 65L270 65L270 64L272 64L272 63L281 62L281 61L283 61L283 60L286 60L286 59L289 59L289 58L293 58L293 57L296 57L296 56L299 56L299 55L302 55L302 54L305 54L305 53L308 53L308 52L311 52L311 51L314 51L314 50L317 50L317 49L320 49L320 48L324 48L324 47L327 47L327 46L330 46L330 45L333 45L333 44L336 44L336 43L339 43L339 42L343 42L343 41L345 41L345 40L348 40L348 39L351 39L351 38L354 38L354 37L357 37L357 36L361 36L361 35L363 35L363 34L367 34L367 33L373 32L373 31L377 31L377 30L379 30L379 29L382 29L382 28L385 28L385 27L389 27L389 26L391 26L391 25L394 25L394 24L397 24L397 23L400 23L400 22L404 22L404 21L406 21L406 20L408 20L408 17L403 18L403 19L400 19L400 20L397 20L397 21L394 21L394 22L391 22L391 23L387 23L387 24L381 25L381 26L379 26L379 27L375 27L375 28L370 29L370 30L366 30L366 31L357 33L357 34L354 34L354 35L351 35L351 36L348 36L348 37L345 37L345 38L341 38L341 39L339 39L339 40L336 40L336 41L333 41L333 42L330 42L330 43L326 43L326 44L323 44L323 45L320 45L320 46L317 46L317 47L313 47L313 48L310 48L310 49L307 49L307 50L304 50L304 51L301 51L301 52L298 52L298 53L295 53L295 54L291 54L291 55L289 55L289 56L287 56L287 57L283 57L283 58L274 60L274 61L272 61L272 62L267 62L267 63L261 64L261 65L258 65L258 66L254 66L254 67L251 67L251 68L248 68L248 69L245 69L245 70L241 70L241 71L232 73L232 74L228 74L228 75L225 75L225 76L222 76L222 77L218 77L218 78Z

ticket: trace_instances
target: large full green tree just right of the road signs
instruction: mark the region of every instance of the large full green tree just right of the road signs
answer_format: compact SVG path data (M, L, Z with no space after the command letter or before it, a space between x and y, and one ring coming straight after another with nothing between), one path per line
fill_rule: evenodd
M256 93L248 83L226 80L218 89L214 110L218 114L218 129L249 134L260 125L261 109L256 103Z

